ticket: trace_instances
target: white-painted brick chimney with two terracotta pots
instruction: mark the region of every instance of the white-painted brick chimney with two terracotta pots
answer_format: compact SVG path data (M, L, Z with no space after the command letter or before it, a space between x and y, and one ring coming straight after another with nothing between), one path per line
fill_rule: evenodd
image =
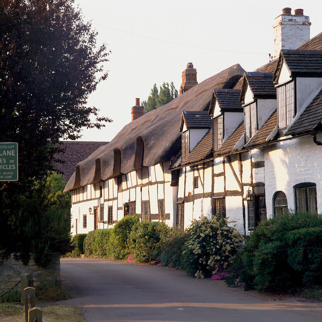
M274 58L281 49L295 49L310 39L310 17L303 15L303 9L284 8L274 20Z

